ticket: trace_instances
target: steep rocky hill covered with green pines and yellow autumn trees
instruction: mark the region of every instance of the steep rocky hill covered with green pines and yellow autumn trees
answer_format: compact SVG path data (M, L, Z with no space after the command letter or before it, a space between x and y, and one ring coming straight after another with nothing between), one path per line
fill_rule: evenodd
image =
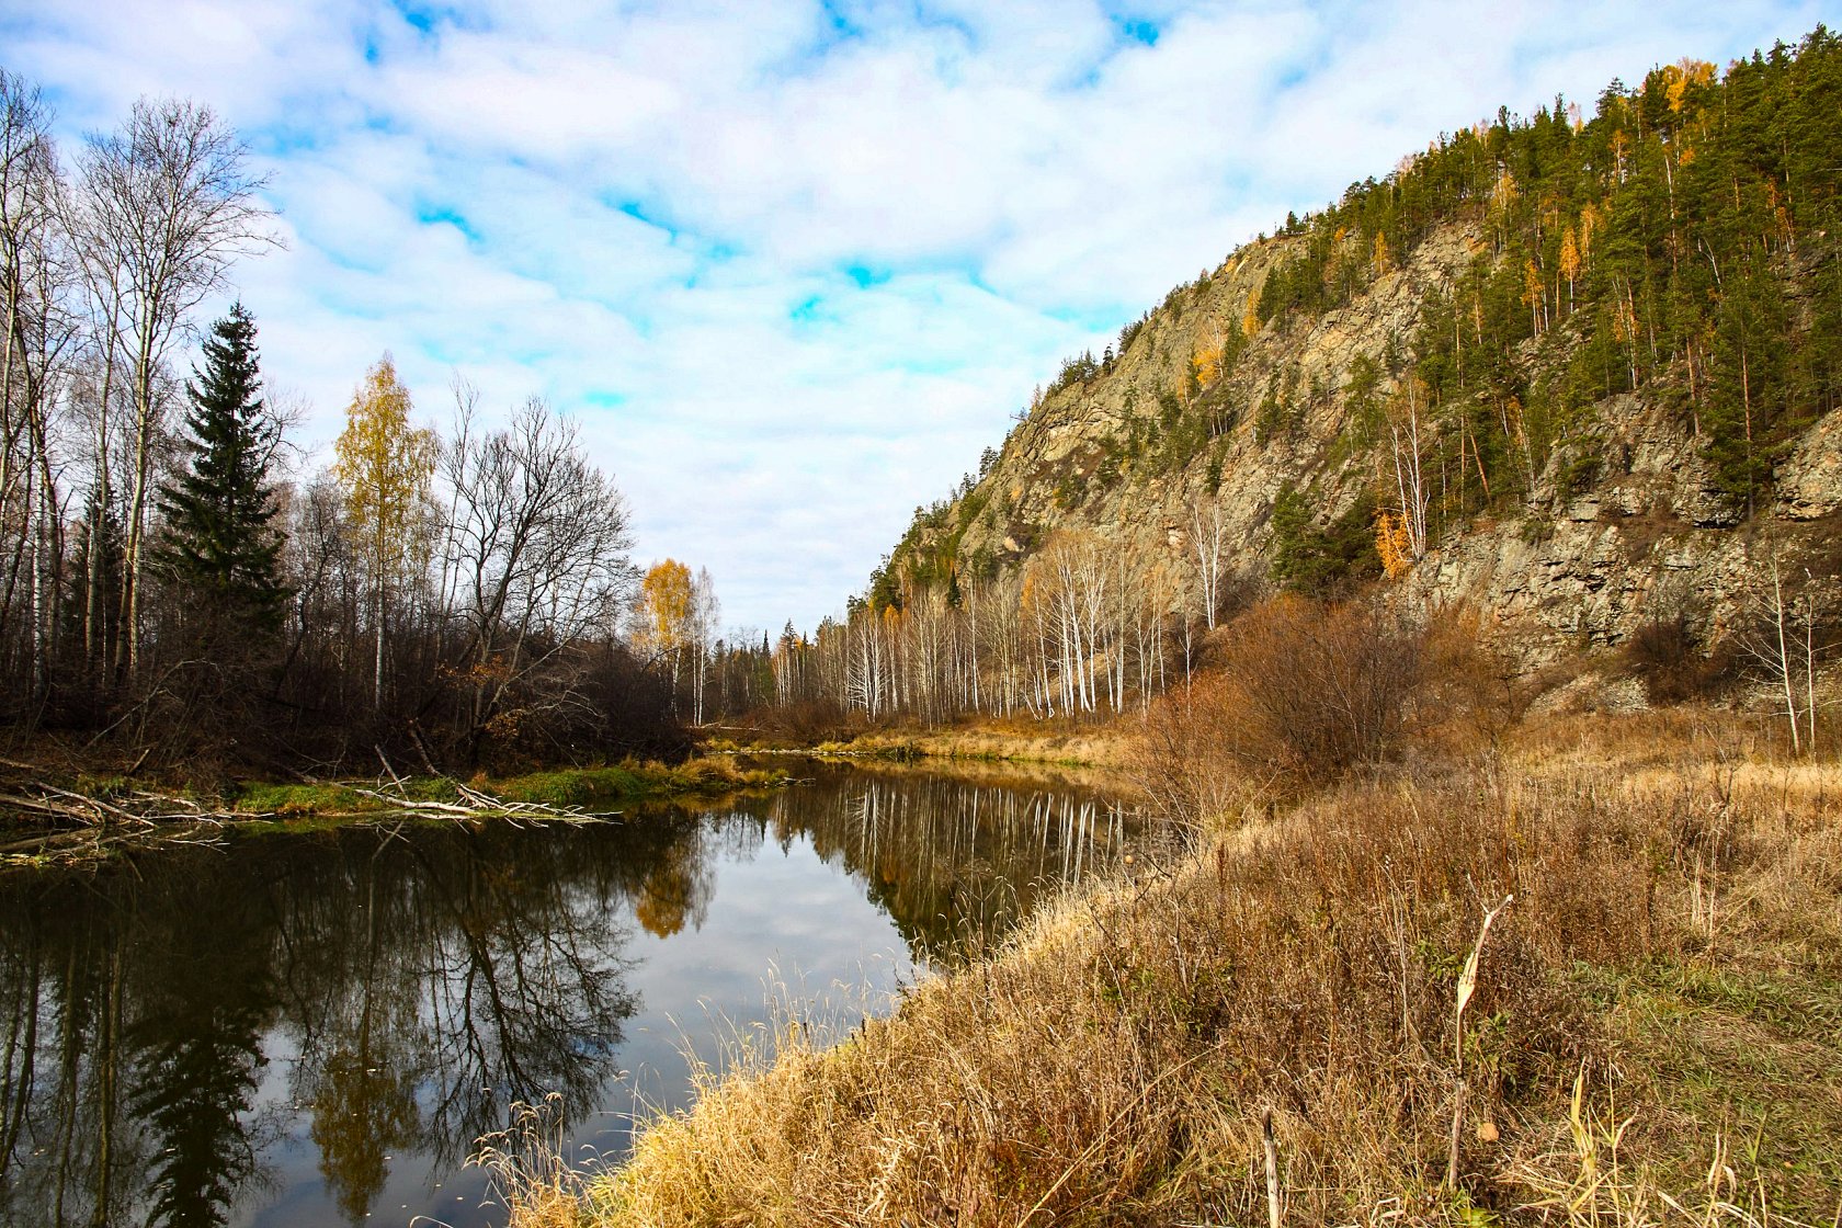
M1768 556L1836 571L1836 149L1824 28L1442 136L1070 359L858 617L1087 573L1208 624L1378 582L1538 654L1719 633Z

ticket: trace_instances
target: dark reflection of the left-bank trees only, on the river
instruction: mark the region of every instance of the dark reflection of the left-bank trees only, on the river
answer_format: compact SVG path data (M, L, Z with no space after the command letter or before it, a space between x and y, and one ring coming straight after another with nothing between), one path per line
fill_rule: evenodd
M449 1165L512 1099L588 1110L635 1009L621 917L694 827L363 830L0 880L0 1222L225 1222L287 1118L256 1105L265 1035L354 1221L398 1149Z

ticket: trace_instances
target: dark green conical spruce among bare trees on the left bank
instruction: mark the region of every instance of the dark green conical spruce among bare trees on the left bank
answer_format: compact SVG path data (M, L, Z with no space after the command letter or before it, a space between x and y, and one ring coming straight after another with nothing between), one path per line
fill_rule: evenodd
M256 322L243 304L212 326L204 370L186 385L190 468L160 492L166 532L155 562L206 635L273 633L287 589L267 484L276 423L258 392Z

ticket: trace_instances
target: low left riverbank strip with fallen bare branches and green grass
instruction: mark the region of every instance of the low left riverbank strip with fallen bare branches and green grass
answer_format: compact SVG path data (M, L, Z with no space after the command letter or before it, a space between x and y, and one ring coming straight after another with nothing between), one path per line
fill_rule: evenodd
M201 790L127 775L55 773L6 762L0 865L87 862L171 840L420 817L586 821L648 801L705 799L785 784L787 773L733 755L682 764L621 762L477 775L236 782Z

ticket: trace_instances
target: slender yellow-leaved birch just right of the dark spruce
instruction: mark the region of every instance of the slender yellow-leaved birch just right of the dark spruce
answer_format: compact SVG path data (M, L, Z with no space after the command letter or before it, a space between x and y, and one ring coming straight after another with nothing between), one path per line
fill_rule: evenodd
M383 703L383 648L391 585L418 558L429 521L429 479L440 451L435 433L409 420L409 388L385 353L365 374L346 407L346 427L333 444L333 473L346 497L346 516L370 571L372 703Z

